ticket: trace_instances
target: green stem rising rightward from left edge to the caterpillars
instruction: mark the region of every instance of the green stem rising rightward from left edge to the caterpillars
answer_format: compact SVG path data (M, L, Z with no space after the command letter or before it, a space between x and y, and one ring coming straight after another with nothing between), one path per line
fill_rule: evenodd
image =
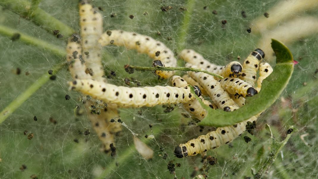
M56 74L64 64L55 65L52 67L53 74ZM43 74L36 82L28 87L23 93L17 96L7 107L5 107L0 113L0 124L9 117L22 103L24 103L30 96L35 93L41 86L43 86L50 76L47 72Z

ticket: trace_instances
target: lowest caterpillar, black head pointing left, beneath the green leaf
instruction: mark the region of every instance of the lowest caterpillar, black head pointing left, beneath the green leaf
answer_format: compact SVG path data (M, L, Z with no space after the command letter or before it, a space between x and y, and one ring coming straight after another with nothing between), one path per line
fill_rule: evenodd
M174 154L176 157L182 158L197 155L210 149L218 148L221 145L228 144L243 134L248 121L255 121L258 116L259 114L233 126L218 127L215 131L209 132L206 135L200 135L198 138L192 139L185 144L180 144L175 148Z

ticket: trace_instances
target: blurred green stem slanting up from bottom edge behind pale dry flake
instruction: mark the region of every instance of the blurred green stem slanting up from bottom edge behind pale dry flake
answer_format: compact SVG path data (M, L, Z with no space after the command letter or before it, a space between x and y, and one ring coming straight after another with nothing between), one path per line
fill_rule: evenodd
M156 137L156 135L162 132L162 128L160 126L153 126L152 132ZM150 139L146 139L144 137L140 138L140 140L145 144L148 144L151 141ZM127 162L128 158L133 157L135 152L135 145L129 145L127 149L123 150L121 155L118 155L118 158L114 159L110 164L107 165L104 172L97 178L111 178L110 175L112 175L112 173L115 172L117 168L121 167L121 165L124 165Z

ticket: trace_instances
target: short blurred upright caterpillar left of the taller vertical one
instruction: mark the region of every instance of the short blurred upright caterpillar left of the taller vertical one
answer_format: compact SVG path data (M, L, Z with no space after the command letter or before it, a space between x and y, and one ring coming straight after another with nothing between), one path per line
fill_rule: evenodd
M85 73L87 66L82 56L82 46L79 35L73 34L72 37L68 39L66 53L66 60L69 62L69 70L73 79L91 79L91 76Z

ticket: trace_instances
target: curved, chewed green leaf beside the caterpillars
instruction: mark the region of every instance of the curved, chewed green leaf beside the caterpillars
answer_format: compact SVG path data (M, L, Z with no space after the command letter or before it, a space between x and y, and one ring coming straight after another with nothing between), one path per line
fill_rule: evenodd
M207 111L207 116L199 123L201 126L230 126L251 118L270 107L283 92L293 73L293 56L289 49L280 41L272 39L272 48L276 55L276 67L262 83L257 95L246 98L245 105L233 112L211 109L199 100Z

